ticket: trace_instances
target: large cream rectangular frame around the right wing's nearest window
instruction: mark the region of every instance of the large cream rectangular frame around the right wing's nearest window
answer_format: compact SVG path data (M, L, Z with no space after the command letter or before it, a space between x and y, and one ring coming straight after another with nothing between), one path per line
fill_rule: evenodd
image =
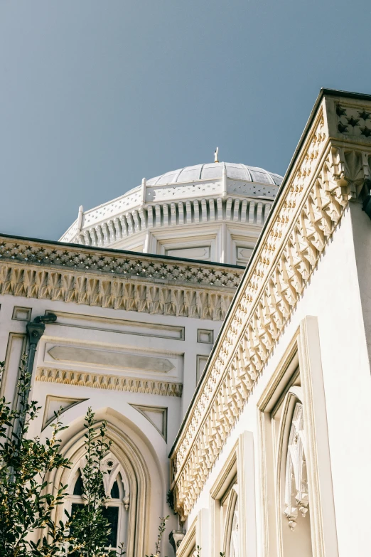
M284 557L281 509L277 484L276 451L279 438L271 415L279 408L295 381L300 378L306 432L311 544L313 556L338 557L333 503L333 484L328 445L326 400L323 386L318 319L306 316L292 336L257 403L259 423L259 465L262 496L263 557ZM316 428L321 424L321 428ZM272 505L269 494L275 494ZM278 518L279 515L279 519ZM326 529L324 522L326 521Z

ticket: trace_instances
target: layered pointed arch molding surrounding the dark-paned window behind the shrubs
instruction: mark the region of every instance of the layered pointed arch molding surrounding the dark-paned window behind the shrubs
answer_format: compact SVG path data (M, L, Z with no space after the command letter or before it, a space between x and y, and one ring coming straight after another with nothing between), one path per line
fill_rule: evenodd
M149 442L146 444L151 452L152 462L149 462L149 459L144 457L139 447L136 446L127 431L125 431L130 429L127 418L109 408L97 410L95 417L97 419L97 428L100 428L103 420L107 421L107 438L112 442L111 452L117 459L119 466L122 467L124 472L123 481L126 484L127 492L130 494L127 521L127 556L144 555L148 543L149 509L151 506L151 474L149 465L151 466L151 472L156 473L159 482L163 484L161 468L154 455L152 455ZM60 484L68 484L70 486L76 478L80 462L85 456L84 433L83 417L78 420L78 423L72 423L70 428L65 431L61 452L63 456L68 457L70 462L72 462L72 467L69 470L57 470L53 477L50 477L50 482L53 482L53 486L56 487ZM143 436L141 440L145 443ZM165 497L164 493L163 497ZM63 518L63 509L58 508L56 513L55 518L57 520Z

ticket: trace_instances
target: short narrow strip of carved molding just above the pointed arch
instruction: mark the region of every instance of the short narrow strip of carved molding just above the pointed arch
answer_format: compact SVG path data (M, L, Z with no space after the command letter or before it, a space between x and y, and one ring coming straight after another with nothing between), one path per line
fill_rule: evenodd
M149 395L181 397L182 383L57 368L37 368L36 381Z

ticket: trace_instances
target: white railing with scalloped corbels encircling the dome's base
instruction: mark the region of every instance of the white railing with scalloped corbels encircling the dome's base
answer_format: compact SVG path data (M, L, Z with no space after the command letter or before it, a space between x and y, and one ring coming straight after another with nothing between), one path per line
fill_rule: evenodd
M227 177L185 184L146 186L85 211L60 241L113 245L142 230L213 221L262 225L278 187Z

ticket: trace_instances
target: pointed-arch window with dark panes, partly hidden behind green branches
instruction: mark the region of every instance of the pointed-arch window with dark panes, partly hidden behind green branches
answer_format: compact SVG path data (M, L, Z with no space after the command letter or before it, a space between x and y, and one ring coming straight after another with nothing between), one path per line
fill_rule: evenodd
M80 506L85 505L83 469L85 458L82 458L72 476L68 512L73 514ZM109 521L111 532L108 545L118 548L120 543L127 543L128 511L130 504L129 482L122 466L111 452L104 458L102 465L104 494L107 497L103 516Z

